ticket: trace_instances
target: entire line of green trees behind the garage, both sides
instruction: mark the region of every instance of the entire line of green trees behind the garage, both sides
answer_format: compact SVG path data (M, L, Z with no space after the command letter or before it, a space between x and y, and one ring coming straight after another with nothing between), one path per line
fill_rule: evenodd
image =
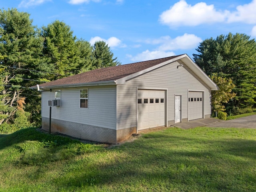
M239 114L256 105L256 42L246 34L200 43L193 59L220 90L212 111ZM29 87L96 68L120 65L104 41L91 45L56 20L37 28L27 12L0 11L0 126L40 124L40 93Z

